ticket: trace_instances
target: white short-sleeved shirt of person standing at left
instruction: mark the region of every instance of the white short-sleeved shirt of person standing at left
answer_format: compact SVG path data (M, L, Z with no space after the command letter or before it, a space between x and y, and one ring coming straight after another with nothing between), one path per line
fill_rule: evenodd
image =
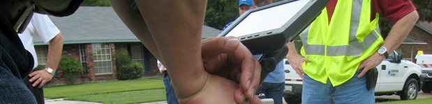
M40 37L44 43L50 42L52 38L56 37L60 33L59 28L55 26L51 19L47 15L41 15L38 13L34 13L31 18L29 25L26 30L19 34L22 44L24 48L27 49L33 55L34 66L38 65L38 56L36 55L36 51L33 46L33 36L37 35Z

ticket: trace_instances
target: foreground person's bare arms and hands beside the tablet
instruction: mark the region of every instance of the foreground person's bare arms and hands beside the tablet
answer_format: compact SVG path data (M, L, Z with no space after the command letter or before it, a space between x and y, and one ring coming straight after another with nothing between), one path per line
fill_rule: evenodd
M241 103L246 98L251 101L258 99L253 95L259 83L260 65L246 46L239 45L239 40L228 41L228 37L217 37L216 40L223 39L223 41L203 44L223 43L222 45L202 47L201 34L207 1L136 1L140 16L131 9L131 1L111 0L110 2L126 26L131 31L135 31L133 33L140 38L144 46L167 67L167 72L172 79L172 87L180 103L211 103L214 101L210 99L226 99L226 103L236 101ZM208 46L218 47L216 48L218 51L202 54L202 48L207 51L212 49ZM226 49L225 46L234 47L220 51ZM202 55L211 59L228 56L228 58L222 58L226 60L215 61L226 62L237 70L241 68L241 71L237 72L238 78L241 79L240 85L235 83L235 80L212 75L205 71ZM221 92L221 90L223 93L209 94Z

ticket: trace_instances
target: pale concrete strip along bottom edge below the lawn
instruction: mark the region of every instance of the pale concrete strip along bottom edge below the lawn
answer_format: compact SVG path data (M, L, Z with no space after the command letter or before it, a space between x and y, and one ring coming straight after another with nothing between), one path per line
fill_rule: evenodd
M45 98L45 104L101 104L97 102L88 102L88 101L67 101L63 98L56 99L47 99ZM140 103L140 104L167 104L167 101L157 101L150 103Z

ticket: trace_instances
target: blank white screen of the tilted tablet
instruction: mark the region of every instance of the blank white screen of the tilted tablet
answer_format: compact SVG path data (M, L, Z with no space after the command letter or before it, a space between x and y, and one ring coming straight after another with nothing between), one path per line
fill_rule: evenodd
M292 1L271 8L250 12L225 35L240 37L281 28L301 10L309 0Z

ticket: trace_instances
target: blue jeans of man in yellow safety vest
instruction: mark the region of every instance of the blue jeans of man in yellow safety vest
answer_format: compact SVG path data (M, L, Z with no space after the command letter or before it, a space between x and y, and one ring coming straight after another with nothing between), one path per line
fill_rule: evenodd
M304 104L375 103L375 88L366 89L366 77L357 78L357 76L359 72L342 85L333 87L330 80L327 80L327 84L323 84L304 74L301 101Z

